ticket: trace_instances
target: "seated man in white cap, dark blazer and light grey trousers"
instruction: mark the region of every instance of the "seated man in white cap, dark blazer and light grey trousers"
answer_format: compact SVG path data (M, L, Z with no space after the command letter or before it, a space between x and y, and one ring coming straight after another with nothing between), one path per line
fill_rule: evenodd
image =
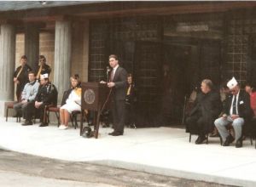
M229 146L236 140L236 148L239 148L242 146L242 126L245 124L245 121L250 120L252 116L250 99L249 95L240 89L235 77L227 83L227 86L230 88L231 94L226 99L223 116L219 117L214 124L224 141L223 146ZM235 130L235 139L226 128L230 123Z

